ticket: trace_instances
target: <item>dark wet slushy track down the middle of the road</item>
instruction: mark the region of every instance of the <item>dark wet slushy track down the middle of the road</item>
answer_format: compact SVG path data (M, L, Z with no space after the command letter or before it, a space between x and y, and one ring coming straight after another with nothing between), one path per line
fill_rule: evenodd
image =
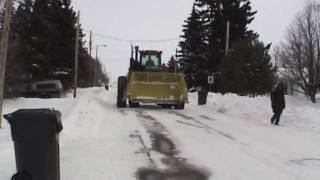
M167 129L153 116L147 114L142 109L136 109L137 117L145 126L152 139L152 147L165 156L162 163L168 166L167 169L161 170L156 167L150 153L150 161L153 162L153 168L141 168L137 171L137 177L140 180L207 180L210 173L204 172L188 163L183 158L178 157L179 151L175 144L169 138L170 133ZM144 144L143 139L140 138Z

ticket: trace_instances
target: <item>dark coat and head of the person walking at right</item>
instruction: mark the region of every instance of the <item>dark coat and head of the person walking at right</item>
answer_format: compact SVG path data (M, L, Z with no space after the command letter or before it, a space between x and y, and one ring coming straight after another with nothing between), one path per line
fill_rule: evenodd
M286 108L284 87L279 84L271 92L271 106L274 113L282 113L283 109Z

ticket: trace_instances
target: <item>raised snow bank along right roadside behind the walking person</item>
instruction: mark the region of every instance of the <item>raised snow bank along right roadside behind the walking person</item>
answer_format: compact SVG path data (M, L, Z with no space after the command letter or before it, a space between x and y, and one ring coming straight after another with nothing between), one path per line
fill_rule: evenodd
M189 96L191 106L197 108L197 94ZM286 96L285 99L286 109L281 118L282 125L320 131L320 119L316 118L320 117L320 97L317 104L313 104L304 96ZM269 122L272 116L268 95L249 98L235 94L209 94L208 104L203 109L243 119L256 119L257 122Z

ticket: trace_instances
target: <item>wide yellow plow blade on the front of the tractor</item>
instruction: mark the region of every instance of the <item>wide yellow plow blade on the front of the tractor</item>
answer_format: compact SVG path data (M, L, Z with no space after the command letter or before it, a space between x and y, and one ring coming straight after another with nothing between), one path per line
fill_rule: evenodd
M188 91L183 74L171 72L132 72L126 90L133 103L175 105L183 109Z

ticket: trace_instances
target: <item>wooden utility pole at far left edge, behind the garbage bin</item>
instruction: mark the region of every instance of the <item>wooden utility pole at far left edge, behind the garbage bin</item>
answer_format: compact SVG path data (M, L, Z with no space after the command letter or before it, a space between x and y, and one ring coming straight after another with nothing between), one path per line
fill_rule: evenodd
M5 2L5 18L1 39L1 49L0 49L0 128L2 127L2 105L3 105L3 94L4 94L4 80L6 72L6 61L8 54L8 42L10 33L10 23L12 14L12 0L7 0Z

